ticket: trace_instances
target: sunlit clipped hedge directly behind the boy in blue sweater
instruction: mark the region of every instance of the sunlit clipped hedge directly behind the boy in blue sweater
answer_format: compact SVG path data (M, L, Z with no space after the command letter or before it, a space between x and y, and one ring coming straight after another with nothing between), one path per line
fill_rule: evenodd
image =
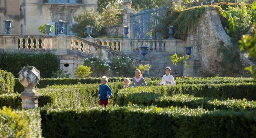
M122 88L122 83L109 82L108 85L113 91L110 98L110 105L113 104L118 90ZM50 86L47 88L36 89L39 94L38 106L43 107L50 104L54 107L78 107L78 106L95 106L99 104L97 97L99 84L78 84ZM21 107L20 94L0 95L0 107L11 106L12 108Z

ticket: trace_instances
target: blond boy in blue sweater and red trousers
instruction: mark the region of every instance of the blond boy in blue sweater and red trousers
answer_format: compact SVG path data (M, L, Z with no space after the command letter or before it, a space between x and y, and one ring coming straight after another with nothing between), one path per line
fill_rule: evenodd
M112 95L112 90L110 87L106 84L108 82L108 78L106 76L103 76L100 81L100 90L99 90L99 99L100 99L100 105L104 104L105 107L108 106L108 99Z

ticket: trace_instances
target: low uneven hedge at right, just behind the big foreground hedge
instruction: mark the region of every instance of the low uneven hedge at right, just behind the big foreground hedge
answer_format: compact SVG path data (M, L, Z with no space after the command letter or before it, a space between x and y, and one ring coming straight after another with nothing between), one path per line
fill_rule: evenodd
M161 94L149 94L148 93L140 93L141 97L144 95L144 99L137 97L129 97L124 101L124 105L128 104L138 104L144 106L155 105L157 107L188 107L188 108L204 108L208 110L214 109L229 109L240 111L244 109L255 110L256 102L255 101L247 101L246 99L227 99L227 100L219 100L213 98L204 98L204 97L194 97L191 95L173 95L173 96L164 96ZM134 95L135 96L135 95Z

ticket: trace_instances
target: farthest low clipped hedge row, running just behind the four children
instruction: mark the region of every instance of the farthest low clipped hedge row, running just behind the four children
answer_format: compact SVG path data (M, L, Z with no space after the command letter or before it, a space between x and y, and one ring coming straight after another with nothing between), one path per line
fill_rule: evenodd
M146 81L148 86L154 86L161 81L161 78L150 78L151 81ZM101 78L83 78L83 79L41 79L36 87L45 88L52 85L73 85L73 84L100 84ZM109 78L109 82L123 82L124 77ZM132 78L130 78L132 80ZM222 83L252 83L256 82L253 78L232 78L232 77L214 77L214 78L195 78L195 77L176 77L176 84L222 84ZM23 92L24 87L15 80L14 92Z

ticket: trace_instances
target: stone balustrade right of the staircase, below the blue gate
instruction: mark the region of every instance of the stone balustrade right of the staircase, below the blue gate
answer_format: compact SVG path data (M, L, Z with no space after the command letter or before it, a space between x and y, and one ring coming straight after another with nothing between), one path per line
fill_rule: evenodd
M166 52L184 54L184 41L179 39L118 39L118 38L89 38L87 39L115 51L132 54L140 52L140 46L146 45L148 53Z

